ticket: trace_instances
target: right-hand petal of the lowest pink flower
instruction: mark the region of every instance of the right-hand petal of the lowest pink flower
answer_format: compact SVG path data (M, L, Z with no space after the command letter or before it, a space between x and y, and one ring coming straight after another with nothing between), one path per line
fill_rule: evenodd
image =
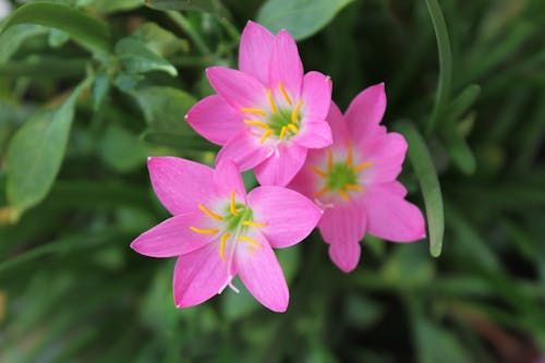
M316 227L322 210L302 194L281 186L258 186L247 195L254 220L264 222L261 231L275 249L305 239Z

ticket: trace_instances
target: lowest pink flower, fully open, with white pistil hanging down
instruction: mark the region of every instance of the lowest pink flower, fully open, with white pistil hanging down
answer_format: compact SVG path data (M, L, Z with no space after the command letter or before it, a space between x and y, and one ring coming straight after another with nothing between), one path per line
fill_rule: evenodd
M259 186L247 195L230 160L216 170L174 157L148 159L155 193L173 215L131 244L152 257L179 256L174 267L178 307L199 304L239 274L249 291L275 312L289 292L271 247L293 245L316 227L320 210L281 186Z

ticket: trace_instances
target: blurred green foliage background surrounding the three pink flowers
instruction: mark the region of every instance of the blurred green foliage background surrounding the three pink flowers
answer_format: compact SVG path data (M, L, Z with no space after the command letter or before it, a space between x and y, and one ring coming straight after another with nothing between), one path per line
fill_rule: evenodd
M0 21L0 362L543 362L545 1L0 9L17 9ZM342 109L386 83L431 241L365 237L346 275L313 233L278 251L286 314L245 291L175 310L174 261L129 247L168 217L146 157L213 162L183 114L206 66L237 66L247 20L290 31Z

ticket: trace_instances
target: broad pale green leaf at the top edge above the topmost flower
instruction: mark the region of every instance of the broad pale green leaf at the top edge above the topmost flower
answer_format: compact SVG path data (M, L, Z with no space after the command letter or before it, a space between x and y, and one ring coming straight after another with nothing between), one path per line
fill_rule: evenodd
M257 22L277 33L284 28L295 40L315 34L353 0L267 0Z

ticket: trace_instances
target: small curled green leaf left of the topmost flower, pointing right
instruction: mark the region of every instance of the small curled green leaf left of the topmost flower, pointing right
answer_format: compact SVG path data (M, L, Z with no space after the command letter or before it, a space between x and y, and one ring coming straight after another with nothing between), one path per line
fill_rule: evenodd
M178 75L178 71L172 64L135 38L128 37L119 40L116 45L116 53L130 74L162 71L171 76Z

